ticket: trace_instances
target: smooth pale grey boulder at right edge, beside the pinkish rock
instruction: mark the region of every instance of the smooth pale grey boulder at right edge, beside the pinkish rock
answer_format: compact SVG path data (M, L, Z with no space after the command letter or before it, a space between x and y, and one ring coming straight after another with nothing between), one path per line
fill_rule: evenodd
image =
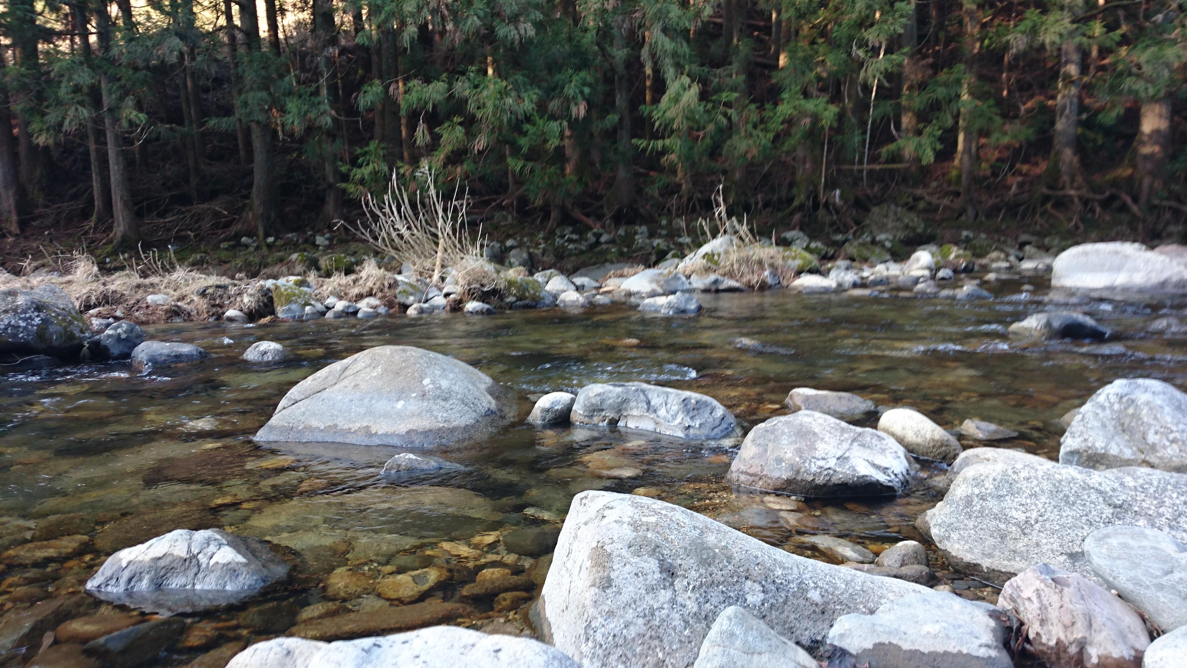
M1179 529L1182 536L1182 524ZM1100 580L1160 629L1187 626L1187 546L1181 541L1155 529L1105 527L1088 534L1084 554Z

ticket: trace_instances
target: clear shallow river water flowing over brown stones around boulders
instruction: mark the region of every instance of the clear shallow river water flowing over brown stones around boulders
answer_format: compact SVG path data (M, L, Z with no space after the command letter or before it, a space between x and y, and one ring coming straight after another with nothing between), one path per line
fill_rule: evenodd
M283 632L296 606L322 600L319 585L336 569L379 575L434 560L500 559L513 571L522 568L531 559L504 559L509 550L493 532L556 527L584 490L658 497L814 559L826 557L795 544L796 534L831 534L877 552L919 536L915 518L942 496L942 466L921 465L900 498L808 499L799 508L799 524L787 528L761 498L724 483L738 441L535 429L520 420L485 442L429 452L465 468L401 484L379 475L396 449L261 447L252 435L300 379L392 344L478 367L519 395L521 418L545 392L643 380L712 396L749 428L785 414L791 389L811 386L856 392L880 407L914 407L945 428L967 417L986 420L1020 433L994 445L1052 459L1061 435L1058 420L1109 382L1153 377L1187 384L1187 340L1142 334L1156 317L1176 315L1164 304L1080 304L1123 334L1117 344L1023 346L1010 341L1005 327L1049 307L1045 290L1021 294L1020 285L990 285L998 298L972 303L788 291L704 295L697 317L612 305L490 317L146 327L150 339L197 344L211 359L144 376L123 363L0 376L0 546L24 542L34 527L40 531L34 540L78 532L94 538L39 563L9 563L0 573L0 605L20 609L77 592L115 549L176 528L226 528L288 548L294 578L265 597L291 601L274 606L280 619L245 619L242 611L259 601L190 615L214 630L188 634L157 662L182 664L230 639ZM747 352L731 344L738 336L794 352ZM259 340L284 344L293 360L241 360ZM875 426L876 415L861 424ZM65 528L55 530L58 525ZM939 559L933 555L933 566L942 572ZM450 600L464 581L427 595ZM363 595L348 605L387 604ZM523 628L522 611L494 612L489 600L477 607L482 613L471 625Z

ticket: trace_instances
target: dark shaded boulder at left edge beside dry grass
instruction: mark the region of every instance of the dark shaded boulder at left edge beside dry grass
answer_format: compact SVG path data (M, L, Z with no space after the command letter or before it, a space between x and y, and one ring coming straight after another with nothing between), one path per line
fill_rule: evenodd
M0 290L0 354L72 357L88 339L87 321L62 288Z

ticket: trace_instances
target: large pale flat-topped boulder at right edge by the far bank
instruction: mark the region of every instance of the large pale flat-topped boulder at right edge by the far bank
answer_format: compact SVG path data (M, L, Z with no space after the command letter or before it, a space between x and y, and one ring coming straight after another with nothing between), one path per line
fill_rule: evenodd
M1106 296L1181 295L1187 292L1187 263L1142 244L1080 244L1055 258L1050 286Z

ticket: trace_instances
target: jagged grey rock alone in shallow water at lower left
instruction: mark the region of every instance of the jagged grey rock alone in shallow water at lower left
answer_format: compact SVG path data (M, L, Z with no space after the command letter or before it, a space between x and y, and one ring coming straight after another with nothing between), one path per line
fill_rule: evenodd
M201 610L242 600L287 572L254 538L221 529L177 529L113 554L87 590L138 607Z

